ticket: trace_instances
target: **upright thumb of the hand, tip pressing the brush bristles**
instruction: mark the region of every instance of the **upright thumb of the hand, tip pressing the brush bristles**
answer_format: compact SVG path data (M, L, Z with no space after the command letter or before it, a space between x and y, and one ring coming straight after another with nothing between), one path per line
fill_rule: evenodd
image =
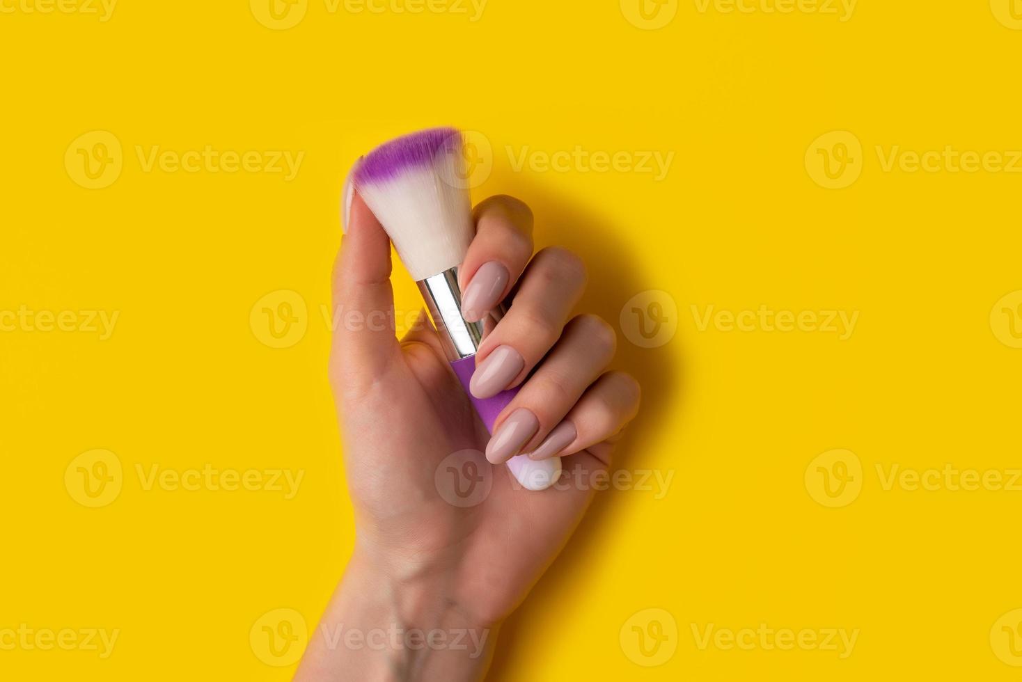
M333 269L334 377L365 385L378 378L401 347L394 335L390 239L358 193Z

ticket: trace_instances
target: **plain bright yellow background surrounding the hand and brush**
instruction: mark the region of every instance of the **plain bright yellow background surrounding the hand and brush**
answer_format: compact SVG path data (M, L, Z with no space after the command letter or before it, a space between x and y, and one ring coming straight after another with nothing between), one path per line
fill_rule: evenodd
M1022 176L883 163L895 147L1022 148L1022 21L1008 0L861 0L843 21L837 3L745 4L671 0L647 30L628 0L490 0L476 21L309 0L277 30L244 0L121 0L107 21L3 0L0 308L120 316L105 340L0 333L0 630L121 632L105 660L0 650L0 678L290 677L249 630L288 608L312 631L353 543L322 315L341 182L374 144L453 124L492 144L474 198L525 199L539 245L586 256L583 307L616 325L662 291L677 325L655 348L622 334L617 360L645 389L619 464L672 475L666 494L598 497L503 631L493 679L1015 679L998 619L1022 607L1022 492L885 489L877 466L1022 466L1022 350L994 307L1022 289ZM103 189L64 162L91 131L123 147ZM811 162L835 131L862 145L843 189ZM305 156L285 182L146 172L136 152L205 145ZM511 160L576 147L675 157L661 180ZM399 308L417 306L398 282ZM306 331L271 348L250 311L282 290L307 304ZM858 319L846 340L701 330L693 306L710 305ZM64 475L95 449L123 486L93 508ZM831 450L862 466L843 506L817 501L810 462ZM305 478L285 500L136 475L207 464ZM639 665L638 612L673 622L662 665ZM693 624L860 634L841 659L700 648Z

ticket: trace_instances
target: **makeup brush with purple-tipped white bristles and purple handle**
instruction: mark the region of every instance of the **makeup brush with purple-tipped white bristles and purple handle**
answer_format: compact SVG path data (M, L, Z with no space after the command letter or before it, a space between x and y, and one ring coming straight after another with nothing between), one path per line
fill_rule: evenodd
M352 182L418 284L448 360L493 433L494 422L518 390L480 399L468 388L475 353L504 310L474 323L466 322L461 311L458 269L475 235L463 145L461 133L452 128L413 133L367 154ZM529 490L550 487L561 472L558 457L533 461L519 454L507 465Z

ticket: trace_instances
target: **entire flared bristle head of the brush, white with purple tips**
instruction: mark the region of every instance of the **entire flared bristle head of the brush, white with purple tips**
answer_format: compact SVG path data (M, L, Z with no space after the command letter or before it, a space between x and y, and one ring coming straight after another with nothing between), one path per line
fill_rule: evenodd
M461 264L472 241L461 133L437 128L377 147L353 184L416 281Z

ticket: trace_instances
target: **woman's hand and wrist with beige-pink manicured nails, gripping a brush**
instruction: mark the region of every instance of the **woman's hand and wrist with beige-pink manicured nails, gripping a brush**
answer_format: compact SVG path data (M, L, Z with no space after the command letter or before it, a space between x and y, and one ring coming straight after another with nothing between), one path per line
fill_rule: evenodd
M513 297L476 356L472 392L521 386L493 438L428 319L394 337L390 244L352 200L330 379L357 543L296 679L480 678L496 629L566 542L638 409L636 381L606 372L613 328L572 316L586 287L578 257L533 255L532 215L516 199L487 199L475 220L460 271L466 316ZM559 483L523 489L503 465L519 452L564 457Z

